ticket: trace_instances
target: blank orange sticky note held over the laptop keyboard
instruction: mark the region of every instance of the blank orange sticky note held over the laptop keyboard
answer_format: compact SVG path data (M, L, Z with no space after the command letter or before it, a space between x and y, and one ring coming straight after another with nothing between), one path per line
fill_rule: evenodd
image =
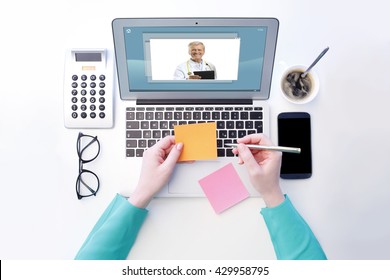
M176 125L175 141L183 143L179 161L217 158L217 127L215 122Z

